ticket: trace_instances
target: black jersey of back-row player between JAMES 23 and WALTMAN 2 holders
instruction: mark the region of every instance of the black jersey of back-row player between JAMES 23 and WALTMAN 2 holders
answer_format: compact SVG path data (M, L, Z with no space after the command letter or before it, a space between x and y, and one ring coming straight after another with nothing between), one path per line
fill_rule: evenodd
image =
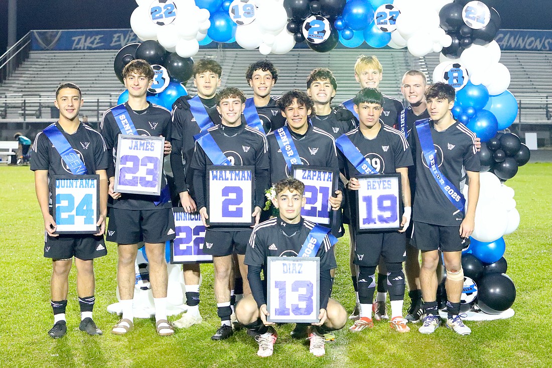
M215 98L200 98L200 101L205 106L211 121L214 124L220 124L221 118L216 109ZM199 132L199 125L192 112L188 108L176 106L172 112L171 169L178 193L189 192L192 194L193 192L193 175L189 174L194 154L194 135Z

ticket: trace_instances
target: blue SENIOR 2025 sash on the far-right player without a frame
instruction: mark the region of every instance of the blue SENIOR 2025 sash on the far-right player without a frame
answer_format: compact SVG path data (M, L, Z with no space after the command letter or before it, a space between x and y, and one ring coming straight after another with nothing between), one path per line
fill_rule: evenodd
M431 175L433 175L440 190L445 194L450 203L454 204L454 207L458 208L459 211L464 212L466 204L464 196L439 170L437 153L433 145L433 139L431 138L431 128L429 128L429 119L417 120L415 124L418 138L420 139L420 148L422 149L424 159L426 159L429 171L431 171Z

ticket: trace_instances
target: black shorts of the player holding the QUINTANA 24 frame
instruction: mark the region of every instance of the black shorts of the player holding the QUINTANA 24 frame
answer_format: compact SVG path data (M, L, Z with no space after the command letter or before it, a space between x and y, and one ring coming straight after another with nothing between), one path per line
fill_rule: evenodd
M89 234L66 234L60 236L45 235L44 256L46 258L71 259L76 257L84 261L107 254L103 236Z

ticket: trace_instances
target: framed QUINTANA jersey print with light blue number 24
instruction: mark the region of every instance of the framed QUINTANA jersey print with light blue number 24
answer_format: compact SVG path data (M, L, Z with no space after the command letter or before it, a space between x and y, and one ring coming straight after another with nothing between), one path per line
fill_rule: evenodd
M99 218L99 175L55 175L52 189L54 234L96 234Z

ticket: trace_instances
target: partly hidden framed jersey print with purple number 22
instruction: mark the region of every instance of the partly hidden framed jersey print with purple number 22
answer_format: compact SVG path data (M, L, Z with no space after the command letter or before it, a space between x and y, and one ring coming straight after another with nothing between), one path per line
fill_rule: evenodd
M211 263L213 256L203 253L205 227L199 213L173 208L176 238L171 243L171 263Z

